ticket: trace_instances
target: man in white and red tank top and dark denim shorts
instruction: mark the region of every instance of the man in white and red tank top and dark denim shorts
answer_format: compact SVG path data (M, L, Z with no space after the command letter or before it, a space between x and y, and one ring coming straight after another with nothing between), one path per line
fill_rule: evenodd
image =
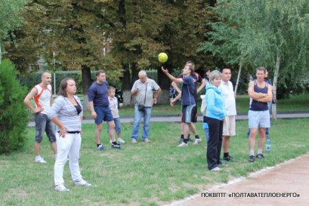
M44 130L49 142L52 144L55 157L57 154L55 127L52 120L47 117L47 112L52 104L52 86L50 85L52 82L52 74L48 71L44 71L41 75L41 80L42 82L36 84L36 86L32 88L23 102L32 113L34 113L34 122L36 123L36 137L34 141L36 158L34 161L38 163L47 163L40 155ZM34 99L35 107L31 104L32 99Z

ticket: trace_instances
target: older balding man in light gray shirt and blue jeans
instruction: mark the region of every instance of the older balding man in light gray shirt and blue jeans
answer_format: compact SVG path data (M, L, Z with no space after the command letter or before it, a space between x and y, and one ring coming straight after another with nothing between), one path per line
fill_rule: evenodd
M139 71L139 80L134 82L131 89L131 95L135 95L135 112L131 137L132 143L137 142L139 124L141 123L142 117L144 117L144 128L141 137L144 142L149 142L148 135L152 105L157 104L157 99L160 94L161 88L159 85L154 80L147 77L146 71ZM143 108L141 108L140 105L144 105Z

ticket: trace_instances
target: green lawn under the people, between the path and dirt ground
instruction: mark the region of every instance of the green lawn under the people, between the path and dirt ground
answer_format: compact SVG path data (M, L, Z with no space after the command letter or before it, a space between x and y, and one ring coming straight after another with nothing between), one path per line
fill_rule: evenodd
M231 139L230 154L238 161L228 163L221 172L209 172L206 168L201 123L196 127L202 143L187 148L176 148L179 124L152 124L150 144L126 143L122 150L109 148L104 127L104 152L95 150L95 125L84 124L80 169L93 186L73 185L66 165L65 185L71 190L66 194L54 191L54 155L46 137L41 150L48 163L34 163L34 128L28 128L25 147L0 156L0 205L162 205L308 152L309 132L304 129L308 124L309 119L273 121L271 153L265 155L264 161L248 163L247 121L237 122L237 136ZM131 129L130 124L122 126L126 141Z

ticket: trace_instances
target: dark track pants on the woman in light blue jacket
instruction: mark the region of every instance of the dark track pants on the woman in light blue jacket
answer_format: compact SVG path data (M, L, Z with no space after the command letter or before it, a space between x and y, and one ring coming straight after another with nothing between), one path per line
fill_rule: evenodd
M205 122L209 126L209 141L207 143L207 164L208 169L218 166L222 146L223 121L211 117L205 117Z

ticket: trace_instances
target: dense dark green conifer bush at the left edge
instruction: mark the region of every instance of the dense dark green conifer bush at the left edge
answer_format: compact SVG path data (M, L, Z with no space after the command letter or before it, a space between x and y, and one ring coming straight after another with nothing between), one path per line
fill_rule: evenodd
M23 104L26 91L16 80L10 60L0 65L0 154L23 147L28 116Z

